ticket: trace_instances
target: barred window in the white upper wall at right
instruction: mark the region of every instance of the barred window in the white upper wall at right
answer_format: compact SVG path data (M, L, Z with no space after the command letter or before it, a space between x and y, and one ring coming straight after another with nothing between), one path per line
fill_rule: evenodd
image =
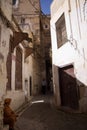
M64 14L56 22L56 32L57 32L57 44L59 48L65 42L67 42L67 33L66 33Z

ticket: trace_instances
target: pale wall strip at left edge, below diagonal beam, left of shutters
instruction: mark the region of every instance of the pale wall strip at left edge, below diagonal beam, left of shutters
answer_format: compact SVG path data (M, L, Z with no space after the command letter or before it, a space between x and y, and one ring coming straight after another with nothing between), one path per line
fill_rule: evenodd
M0 98L6 93L7 83L7 54L9 51L10 31L0 18Z

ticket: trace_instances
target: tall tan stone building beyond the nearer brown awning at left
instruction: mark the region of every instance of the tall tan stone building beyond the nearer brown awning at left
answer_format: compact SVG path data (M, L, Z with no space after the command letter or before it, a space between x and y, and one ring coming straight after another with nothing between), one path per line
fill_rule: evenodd
M26 7L26 8L25 8ZM24 61L25 84L30 88L30 95L36 95L41 88L41 66L40 59L40 1L23 1L15 8L14 16L20 28L33 37L33 53L27 55ZM26 83L27 82L27 83Z

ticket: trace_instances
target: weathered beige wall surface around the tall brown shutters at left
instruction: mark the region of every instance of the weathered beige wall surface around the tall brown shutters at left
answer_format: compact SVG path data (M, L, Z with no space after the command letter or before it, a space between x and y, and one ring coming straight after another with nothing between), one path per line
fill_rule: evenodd
M11 90L7 90L7 56L9 52L10 35L13 35L12 30L8 25L12 22L12 1L1 1L2 16L0 17L0 100L9 97L12 99L11 107L16 110L25 101L24 89L15 91L15 63L16 63L16 51L12 53L12 66L11 68ZM7 24L9 22L9 24ZM17 29L17 28L16 28ZM24 57L23 57L24 58ZM24 60L22 60L24 61ZM23 62L22 62L23 64ZM23 73L23 72L22 72Z

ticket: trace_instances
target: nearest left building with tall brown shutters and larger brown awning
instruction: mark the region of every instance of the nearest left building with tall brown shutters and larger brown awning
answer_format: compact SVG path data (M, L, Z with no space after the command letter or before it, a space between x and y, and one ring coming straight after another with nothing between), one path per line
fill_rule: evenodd
M23 33L13 16L12 1L0 1L0 129L3 129L3 103L12 99L11 107L16 110L25 102L23 88L23 40L31 41ZM19 67L19 69L18 69Z

